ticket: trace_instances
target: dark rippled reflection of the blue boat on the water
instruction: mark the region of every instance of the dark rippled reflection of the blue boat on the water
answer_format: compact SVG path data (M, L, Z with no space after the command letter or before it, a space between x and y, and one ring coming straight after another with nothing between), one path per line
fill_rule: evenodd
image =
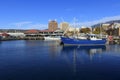
M73 72L76 75L77 64L83 64L84 60L86 60L85 56L88 56L87 59L89 58L89 60L92 61L92 58L94 57L95 54L101 54L104 51L106 51L105 45L101 45L101 46L63 46L61 53L64 56L66 55L66 58L69 58L70 56L72 56Z

